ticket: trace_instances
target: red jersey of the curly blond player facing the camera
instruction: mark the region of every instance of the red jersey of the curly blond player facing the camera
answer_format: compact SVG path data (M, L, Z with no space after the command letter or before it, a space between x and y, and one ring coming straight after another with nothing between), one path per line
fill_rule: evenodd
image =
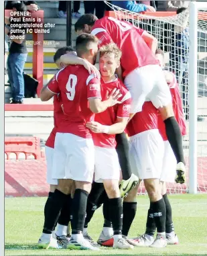
M129 118L131 94L121 80L117 78L115 81L109 83L105 83L101 80L102 99L105 99L107 91L110 93L115 88L120 89L122 96L119 98L119 101L121 101L121 103L116 104L111 108L107 108L107 110L102 113L98 113L95 116L96 122L106 126L115 124L117 118ZM93 133L92 138L95 146L101 146L103 148L115 148L117 145L115 134Z

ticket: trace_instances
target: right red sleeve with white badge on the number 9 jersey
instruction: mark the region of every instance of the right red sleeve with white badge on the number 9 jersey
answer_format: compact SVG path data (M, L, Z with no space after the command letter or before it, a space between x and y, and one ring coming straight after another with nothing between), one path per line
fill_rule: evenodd
M88 79L86 80L87 86L87 98L99 98L102 99L100 93L100 79L94 77L94 75L89 75Z

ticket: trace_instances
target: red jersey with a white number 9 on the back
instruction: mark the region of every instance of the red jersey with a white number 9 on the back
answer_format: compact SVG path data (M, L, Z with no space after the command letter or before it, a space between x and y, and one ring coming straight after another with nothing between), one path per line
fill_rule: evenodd
M94 120L88 99L101 99L100 79L88 75L83 66L70 65L54 76L48 89L53 93L61 93L64 117L57 132L92 138L90 130L86 128L86 123Z

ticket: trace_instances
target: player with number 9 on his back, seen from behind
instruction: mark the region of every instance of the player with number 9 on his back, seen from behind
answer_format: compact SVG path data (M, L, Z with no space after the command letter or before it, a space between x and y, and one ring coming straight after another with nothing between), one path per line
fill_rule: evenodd
M94 63L98 50L98 40L83 34L76 38L77 55ZM58 179L58 186L52 195L50 213L44 222L45 247L50 246L51 233L67 195L70 179L76 183L72 201L72 238L67 245L71 249L97 249L82 236L86 203L94 172L94 144L92 133L86 123L94 119L94 113L105 111L115 105L121 96L115 89L105 101L101 101L100 79L88 75L84 67L78 65L61 69L47 87L41 91L42 101L60 93L64 109L56 130L52 178Z

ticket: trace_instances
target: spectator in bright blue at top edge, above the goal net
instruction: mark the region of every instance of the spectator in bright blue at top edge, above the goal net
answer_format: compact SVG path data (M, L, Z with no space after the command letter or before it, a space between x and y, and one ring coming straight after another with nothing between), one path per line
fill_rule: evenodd
M150 5L144 5L142 3L136 3L136 1L111 1L111 3L136 13L140 13L142 11L156 11L154 7Z

